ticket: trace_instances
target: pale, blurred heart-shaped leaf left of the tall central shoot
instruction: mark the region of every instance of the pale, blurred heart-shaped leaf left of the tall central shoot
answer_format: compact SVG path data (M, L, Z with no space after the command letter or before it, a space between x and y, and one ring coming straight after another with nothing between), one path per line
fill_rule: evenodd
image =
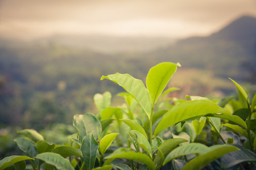
M104 94L95 94L93 96L94 103L100 112L110 106L111 98L112 95L109 91L104 92Z

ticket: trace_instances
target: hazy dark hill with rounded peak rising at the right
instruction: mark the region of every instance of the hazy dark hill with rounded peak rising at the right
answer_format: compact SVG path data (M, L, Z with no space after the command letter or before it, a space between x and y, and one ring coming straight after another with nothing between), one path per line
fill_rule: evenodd
M211 70L225 78L252 79L256 72L256 18L242 16L210 36L179 40L144 58L180 62L185 68Z

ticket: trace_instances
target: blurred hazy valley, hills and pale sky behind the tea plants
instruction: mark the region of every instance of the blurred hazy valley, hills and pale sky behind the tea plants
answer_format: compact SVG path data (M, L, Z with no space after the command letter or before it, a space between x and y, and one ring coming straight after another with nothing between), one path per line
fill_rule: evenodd
M256 1L0 0L0 127L72 124L122 91L102 75L145 82L164 61L181 99L236 94L229 77L254 94Z

